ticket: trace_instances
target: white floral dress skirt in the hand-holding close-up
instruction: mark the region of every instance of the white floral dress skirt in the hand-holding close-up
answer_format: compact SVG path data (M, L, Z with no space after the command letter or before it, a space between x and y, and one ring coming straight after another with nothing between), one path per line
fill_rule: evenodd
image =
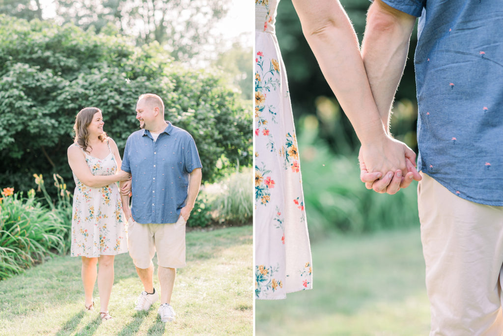
M278 3L255 1L255 294L284 299L312 288L300 161L285 67L274 31Z

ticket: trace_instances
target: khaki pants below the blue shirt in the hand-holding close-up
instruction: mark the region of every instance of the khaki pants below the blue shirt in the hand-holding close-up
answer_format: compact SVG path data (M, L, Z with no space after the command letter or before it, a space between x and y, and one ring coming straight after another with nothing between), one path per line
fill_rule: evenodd
M417 193L430 335L503 335L503 207L464 200L422 176Z

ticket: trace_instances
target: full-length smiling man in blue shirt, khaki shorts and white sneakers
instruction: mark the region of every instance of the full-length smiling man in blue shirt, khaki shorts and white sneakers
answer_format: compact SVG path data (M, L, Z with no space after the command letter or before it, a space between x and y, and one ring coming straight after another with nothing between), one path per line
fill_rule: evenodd
M140 130L126 142L122 170L132 176L132 206L122 196L128 218L128 247L144 291L136 310L148 310L157 301L152 258L157 252L162 322L173 321L170 305L176 269L185 264L185 224L201 185L201 160L192 136L164 121L159 96L141 95L136 104Z

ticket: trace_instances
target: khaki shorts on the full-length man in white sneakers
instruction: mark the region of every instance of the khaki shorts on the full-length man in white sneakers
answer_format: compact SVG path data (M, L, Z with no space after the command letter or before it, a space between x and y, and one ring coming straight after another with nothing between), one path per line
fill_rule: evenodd
M157 265L182 268L185 263L185 220L176 223L140 224L128 220L129 255L137 268L146 269L157 251Z

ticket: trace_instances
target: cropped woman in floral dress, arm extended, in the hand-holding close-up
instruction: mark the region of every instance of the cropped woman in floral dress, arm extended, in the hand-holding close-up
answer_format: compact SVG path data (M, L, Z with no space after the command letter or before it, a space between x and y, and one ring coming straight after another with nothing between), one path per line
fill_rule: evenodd
M386 132L358 39L339 1L293 0L306 39L362 142L369 178L400 170L415 154ZM255 0L255 293L283 299L312 288L300 157L285 67L275 35L277 0ZM387 116L387 111L385 111ZM305 173L305 172L304 172ZM412 173L408 173L409 175ZM334 178L337 172L334 172Z

